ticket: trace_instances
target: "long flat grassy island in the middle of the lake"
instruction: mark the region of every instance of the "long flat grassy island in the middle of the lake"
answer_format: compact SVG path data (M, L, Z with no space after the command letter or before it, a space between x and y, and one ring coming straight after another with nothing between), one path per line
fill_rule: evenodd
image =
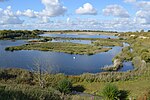
M92 46L87 44L77 43L59 43L59 42L42 42L30 43L21 46L7 47L5 50L41 50L41 51L55 51L69 54L86 54L93 55L100 52L106 52L111 48L102 48L100 46Z

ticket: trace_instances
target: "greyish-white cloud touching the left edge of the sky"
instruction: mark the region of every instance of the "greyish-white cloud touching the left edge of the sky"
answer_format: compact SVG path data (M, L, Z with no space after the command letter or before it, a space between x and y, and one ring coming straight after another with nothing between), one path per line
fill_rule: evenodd
M11 6L8 6L6 9L0 8L0 24L22 24L24 21L16 16L12 10Z

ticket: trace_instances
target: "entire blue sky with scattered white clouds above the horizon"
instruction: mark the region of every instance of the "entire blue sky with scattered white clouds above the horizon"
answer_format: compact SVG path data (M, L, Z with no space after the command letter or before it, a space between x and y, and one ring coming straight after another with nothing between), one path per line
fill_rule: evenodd
M0 0L0 29L150 29L150 0Z

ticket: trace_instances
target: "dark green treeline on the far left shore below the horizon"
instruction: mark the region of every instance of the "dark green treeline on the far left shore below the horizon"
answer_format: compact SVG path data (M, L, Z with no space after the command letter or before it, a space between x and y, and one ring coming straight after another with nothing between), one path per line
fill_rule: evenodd
M0 39L34 38L42 33L41 30L0 30Z

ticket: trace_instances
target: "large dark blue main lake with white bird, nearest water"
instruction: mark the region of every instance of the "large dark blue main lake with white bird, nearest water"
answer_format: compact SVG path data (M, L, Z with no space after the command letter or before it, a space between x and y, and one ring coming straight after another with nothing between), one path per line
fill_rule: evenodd
M101 67L112 64L112 58L118 54L122 47L113 47L108 52L88 55L71 55L58 52L44 52L36 50L5 51L5 47L25 44L23 40L10 41L0 40L0 67L1 68L23 68L32 70L35 63L42 67L49 67L53 72L68 75L82 74L84 72L98 73ZM120 71L133 69L130 62L124 63Z

